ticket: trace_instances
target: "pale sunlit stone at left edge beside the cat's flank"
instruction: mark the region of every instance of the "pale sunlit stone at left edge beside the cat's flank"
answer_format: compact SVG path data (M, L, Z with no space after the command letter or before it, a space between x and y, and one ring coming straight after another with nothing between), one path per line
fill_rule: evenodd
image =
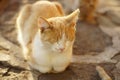
M22 56L22 50L19 46L13 44L12 42L6 40L0 36L0 46L8 50L8 54L1 53L1 60L8 61L13 66L19 66L22 68L29 69L27 63L24 61Z

